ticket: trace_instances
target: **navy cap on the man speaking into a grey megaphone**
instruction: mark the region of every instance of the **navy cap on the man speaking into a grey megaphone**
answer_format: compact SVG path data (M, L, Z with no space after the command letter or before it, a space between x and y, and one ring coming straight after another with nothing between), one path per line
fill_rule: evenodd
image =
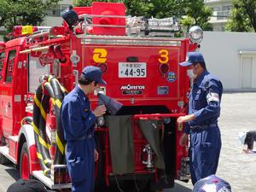
M100 84L106 85L107 83L102 79L102 69L100 67L87 66L84 67L82 77L96 81Z

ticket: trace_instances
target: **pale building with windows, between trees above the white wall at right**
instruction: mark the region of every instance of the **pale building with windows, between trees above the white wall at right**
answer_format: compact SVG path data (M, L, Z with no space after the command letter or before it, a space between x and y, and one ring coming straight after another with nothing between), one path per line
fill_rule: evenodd
M224 32L225 25L232 9L232 0L204 0L207 7L212 9L213 31Z

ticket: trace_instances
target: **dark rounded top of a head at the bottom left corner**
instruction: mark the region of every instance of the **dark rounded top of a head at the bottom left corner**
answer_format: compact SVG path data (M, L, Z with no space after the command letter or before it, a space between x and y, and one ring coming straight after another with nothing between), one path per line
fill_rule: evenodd
M43 183L37 180L19 179L15 183L11 184L6 192L54 192L53 190L47 190Z

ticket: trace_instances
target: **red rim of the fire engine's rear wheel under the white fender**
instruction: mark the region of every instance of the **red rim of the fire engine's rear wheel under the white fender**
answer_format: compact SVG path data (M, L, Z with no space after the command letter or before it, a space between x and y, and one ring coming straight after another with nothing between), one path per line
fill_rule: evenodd
M30 161L28 154L28 147L26 143L23 143L20 153L20 178L29 179L32 178L30 174Z

